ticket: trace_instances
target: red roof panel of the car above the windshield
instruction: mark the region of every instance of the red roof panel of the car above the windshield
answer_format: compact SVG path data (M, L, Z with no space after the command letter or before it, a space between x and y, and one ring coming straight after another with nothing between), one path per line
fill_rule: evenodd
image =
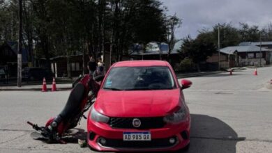
M121 61L112 67L144 67L144 66L169 66L167 61Z

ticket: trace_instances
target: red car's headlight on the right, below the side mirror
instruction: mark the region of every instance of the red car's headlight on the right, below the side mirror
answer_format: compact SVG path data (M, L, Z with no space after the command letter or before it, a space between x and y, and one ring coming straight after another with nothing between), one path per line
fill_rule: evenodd
M181 106L179 111L176 111L170 115L165 116L163 120L167 123L179 124L186 120L186 114L187 114L186 107L183 105Z

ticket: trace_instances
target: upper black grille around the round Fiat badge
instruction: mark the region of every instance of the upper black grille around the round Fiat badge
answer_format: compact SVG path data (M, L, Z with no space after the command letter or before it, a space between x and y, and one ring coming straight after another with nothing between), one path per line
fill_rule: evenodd
M133 119L135 118L110 118L109 126L121 129L158 129L165 126L163 117L156 118L137 118L141 121L140 127L133 127Z

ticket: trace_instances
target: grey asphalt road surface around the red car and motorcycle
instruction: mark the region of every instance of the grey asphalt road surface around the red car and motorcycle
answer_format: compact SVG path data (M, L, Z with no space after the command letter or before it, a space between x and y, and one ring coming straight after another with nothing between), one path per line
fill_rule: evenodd
M192 116L188 152L272 152L272 67L188 78L184 90ZM27 120L38 124L54 117L68 91L0 91L0 152L93 152L76 140L66 145L32 140ZM77 130L86 129L86 120Z

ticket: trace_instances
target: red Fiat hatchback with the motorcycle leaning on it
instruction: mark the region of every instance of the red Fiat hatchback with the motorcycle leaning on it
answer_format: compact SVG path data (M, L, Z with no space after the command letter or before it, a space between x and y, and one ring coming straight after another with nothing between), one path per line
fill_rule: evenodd
M181 80L166 61L110 67L88 115L88 144L112 152L175 151L190 145L190 113Z

